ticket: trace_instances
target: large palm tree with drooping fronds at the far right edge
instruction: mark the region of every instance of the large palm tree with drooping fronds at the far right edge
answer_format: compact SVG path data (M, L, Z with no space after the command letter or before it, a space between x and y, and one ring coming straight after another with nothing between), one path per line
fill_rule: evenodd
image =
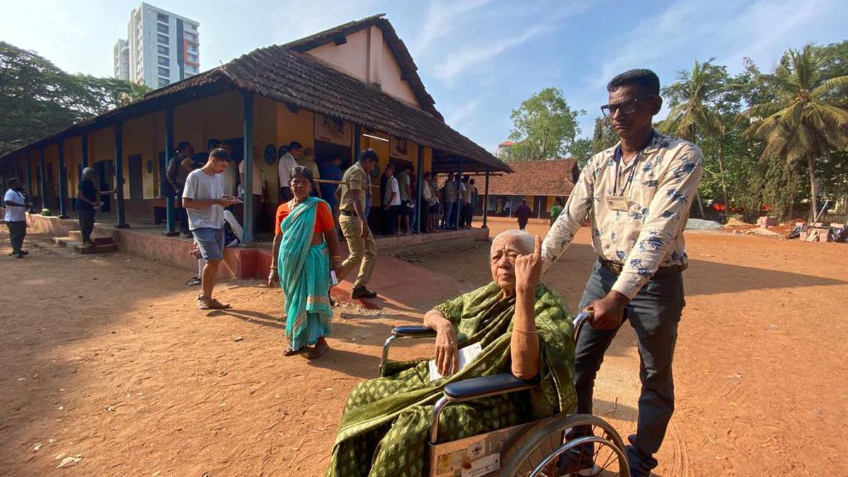
M752 105L744 113L750 121L745 136L766 143L761 160L806 160L811 218L818 209L817 160L829 161L831 150L848 147L848 110L840 107L844 98L838 94L848 88L848 76L826 77L826 60L821 48L790 48L773 75L756 77L776 100Z

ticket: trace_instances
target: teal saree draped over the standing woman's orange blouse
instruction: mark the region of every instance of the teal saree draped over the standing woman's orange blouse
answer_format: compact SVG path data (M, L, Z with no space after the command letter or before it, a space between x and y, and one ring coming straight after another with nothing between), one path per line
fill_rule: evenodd
M315 197L304 200L280 224L277 264L286 296L286 340L292 351L315 345L332 331L329 252L326 242L311 245L315 211L321 202Z

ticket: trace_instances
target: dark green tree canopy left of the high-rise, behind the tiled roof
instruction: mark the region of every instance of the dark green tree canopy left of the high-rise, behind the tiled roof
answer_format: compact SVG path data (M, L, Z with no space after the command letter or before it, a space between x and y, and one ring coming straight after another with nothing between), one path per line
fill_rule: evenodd
M70 75L37 53L0 42L0 154L141 98L148 87Z

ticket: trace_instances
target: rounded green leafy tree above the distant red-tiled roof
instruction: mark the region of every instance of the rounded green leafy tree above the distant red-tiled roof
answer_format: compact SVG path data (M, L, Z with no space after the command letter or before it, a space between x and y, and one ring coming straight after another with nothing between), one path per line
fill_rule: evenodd
M585 111L572 109L562 91L546 87L513 109L510 140L515 160L555 159L572 148L580 134L577 117Z

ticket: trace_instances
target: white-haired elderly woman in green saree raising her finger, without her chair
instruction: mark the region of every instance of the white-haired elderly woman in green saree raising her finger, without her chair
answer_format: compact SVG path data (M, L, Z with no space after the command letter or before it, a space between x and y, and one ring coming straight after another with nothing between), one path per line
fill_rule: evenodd
M561 298L539 283L540 239L520 231L492 244L492 283L428 311L436 330L435 362L444 378L430 380L428 361L393 363L384 375L354 386L332 449L328 477L420 476L425 471L432 407L446 384L495 373L538 379L533 390L445 407L439 442L571 413L572 318ZM457 370L459 348L483 351Z

